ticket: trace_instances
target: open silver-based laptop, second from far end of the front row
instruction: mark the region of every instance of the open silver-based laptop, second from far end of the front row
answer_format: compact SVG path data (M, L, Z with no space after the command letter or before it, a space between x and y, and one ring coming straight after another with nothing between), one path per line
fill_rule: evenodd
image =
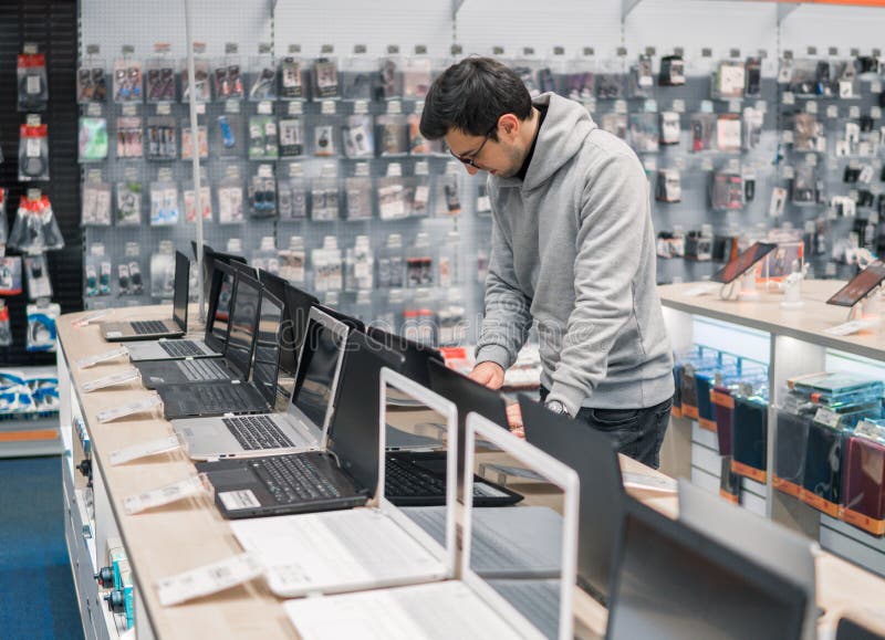
M228 339L228 317L233 297L236 273L223 264L212 271L209 315L202 339L140 340L123 343L129 352L129 360L180 360L183 358L219 358L225 354Z

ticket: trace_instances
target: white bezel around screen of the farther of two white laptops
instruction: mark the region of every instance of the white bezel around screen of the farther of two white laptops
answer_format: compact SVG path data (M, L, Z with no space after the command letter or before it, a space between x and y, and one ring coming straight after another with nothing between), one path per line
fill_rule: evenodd
M455 505L457 502L458 490L458 409L454 402L446 400L442 396L433 392L430 389L418 385L406 378L402 374L383 367L381 369L381 389L378 394L378 484L375 487L374 504L381 512L391 517L399 527L405 529L412 537L421 544L426 549L441 557L445 564L446 577L455 577L457 541L455 535ZM403 511L384 497L384 470L386 459L386 406L387 406L387 385L402 394L418 400L423 406L441 415L446 419L446 433L448 447L446 449L446 544L441 546L431 535L425 532L420 525L416 524ZM499 427L500 429L500 427Z

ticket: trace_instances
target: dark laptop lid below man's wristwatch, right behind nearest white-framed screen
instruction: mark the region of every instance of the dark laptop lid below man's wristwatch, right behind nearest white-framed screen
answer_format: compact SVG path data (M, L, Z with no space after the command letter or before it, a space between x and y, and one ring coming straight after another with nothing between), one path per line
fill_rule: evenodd
M612 562L627 499L612 441L571 418L559 416L520 394L525 440L568 464L581 479L577 581L605 604Z

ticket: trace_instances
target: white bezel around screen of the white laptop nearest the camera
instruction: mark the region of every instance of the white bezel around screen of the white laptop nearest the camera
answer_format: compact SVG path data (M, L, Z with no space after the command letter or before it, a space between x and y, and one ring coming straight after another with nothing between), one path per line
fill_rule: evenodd
M464 472L464 494L466 499L464 504L464 528L461 533L461 579L502 618L506 620L519 620L520 625L517 627L520 630L528 628L539 631L537 627L510 605L503 596L498 594L486 580L470 569L473 501L469 500L468 496L473 495L476 444L477 440L481 439L512 455L539 475L544 476L550 484L555 485L563 492L559 638L560 640L570 640L573 637L574 628L572 599L574 598L574 585L577 579L577 511L580 500L580 481L577 479L577 473L572 468L548 455L540 449L532 447L528 442L520 440L479 413L468 413L466 427L467 441L465 443Z

